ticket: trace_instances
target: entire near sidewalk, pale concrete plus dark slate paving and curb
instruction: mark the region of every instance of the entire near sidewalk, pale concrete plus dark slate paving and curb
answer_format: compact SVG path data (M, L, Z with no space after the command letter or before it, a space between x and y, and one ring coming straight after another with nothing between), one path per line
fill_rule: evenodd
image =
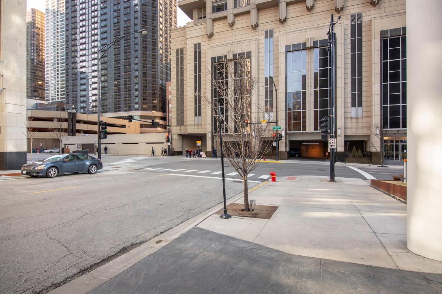
M442 262L405 246L406 204L365 180L326 180L263 183L249 198L278 206L271 219L213 210L51 294L442 294Z

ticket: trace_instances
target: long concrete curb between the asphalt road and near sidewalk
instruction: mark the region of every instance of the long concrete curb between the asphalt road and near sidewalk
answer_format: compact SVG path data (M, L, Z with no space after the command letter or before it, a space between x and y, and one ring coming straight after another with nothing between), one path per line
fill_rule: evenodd
M249 189L249 193L256 190L257 188L267 184L269 181L264 181L263 183ZM243 197L243 193L236 194L228 199L227 204L231 204ZM224 204L215 205L202 213L195 215L191 219L182 222L178 226L175 226L163 234L160 234L146 243L132 249L128 253L117 257L116 259L104 264L103 266L94 269L80 277L73 279L72 281L48 292L48 294L86 294L95 287L103 284L114 276L118 275L122 271L136 264L138 261L144 259L150 254L161 249L165 245L168 245L171 241L175 240L182 234L186 233L188 230L197 226L200 222L204 221L210 215L220 210L224 207Z

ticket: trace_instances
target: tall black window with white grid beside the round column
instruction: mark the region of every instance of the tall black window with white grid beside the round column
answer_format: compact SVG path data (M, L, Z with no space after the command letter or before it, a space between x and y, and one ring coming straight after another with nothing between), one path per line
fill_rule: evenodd
M406 37L382 39L382 127L407 128Z

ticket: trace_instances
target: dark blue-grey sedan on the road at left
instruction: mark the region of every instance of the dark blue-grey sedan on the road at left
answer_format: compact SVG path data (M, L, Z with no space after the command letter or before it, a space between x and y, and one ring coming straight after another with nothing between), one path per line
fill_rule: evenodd
M22 166L22 174L30 177L57 177L60 173L96 173L103 168L103 162L95 157L71 153L59 154L38 162Z

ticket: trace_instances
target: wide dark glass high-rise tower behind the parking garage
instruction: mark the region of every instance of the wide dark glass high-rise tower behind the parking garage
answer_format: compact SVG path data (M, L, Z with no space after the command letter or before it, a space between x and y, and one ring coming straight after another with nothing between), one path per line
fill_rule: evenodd
M65 1L67 108L97 112L99 49L131 34L100 60L103 115L165 121L176 0Z

